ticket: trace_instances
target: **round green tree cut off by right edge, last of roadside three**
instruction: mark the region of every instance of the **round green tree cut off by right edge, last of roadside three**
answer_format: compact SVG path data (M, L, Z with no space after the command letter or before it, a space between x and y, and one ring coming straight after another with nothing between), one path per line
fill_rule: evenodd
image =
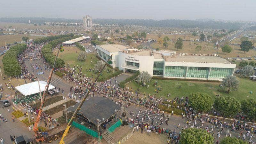
M241 102L241 109L250 120L256 119L256 100L251 98Z

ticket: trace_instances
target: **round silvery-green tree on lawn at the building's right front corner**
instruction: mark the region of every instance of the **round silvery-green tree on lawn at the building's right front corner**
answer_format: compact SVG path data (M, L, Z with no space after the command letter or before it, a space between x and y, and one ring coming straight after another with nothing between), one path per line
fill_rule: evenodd
M236 79L235 76L227 76L223 78L221 82L221 87L223 87L227 93L231 91L236 91L238 89L239 81Z

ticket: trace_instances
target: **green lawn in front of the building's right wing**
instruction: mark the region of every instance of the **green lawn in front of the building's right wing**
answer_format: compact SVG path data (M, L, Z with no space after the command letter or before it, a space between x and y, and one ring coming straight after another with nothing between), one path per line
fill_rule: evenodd
M154 83L156 80L151 80L149 84L149 89L147 87L140 87L135 81L127 84L126 87L132 88L133 91L136 91L138 87L140 87L140 91L142 94L144 92L152 94L156 94L157 97L168 98L167 94L171 93L171 97L175 98L177 96L188 96L192 92L204 92L208 93L212 99L215 99L216 94L230 95L235 97L237 100L242 101L244 99L256 98L256 82L249 80L248 78L239 78L240 81L238 91L231 92L229 94L218 92L218 87L220 83L217 82L192 82L192 81L177 81L177 80L157 80L158 85L162 86L162 91L159 91L158 95L155 92L156 87L154 87ZM179 88L181 86L181 88ZM250 94L249 91L252 91L253 94ZM248 96L248 97L247 97Z

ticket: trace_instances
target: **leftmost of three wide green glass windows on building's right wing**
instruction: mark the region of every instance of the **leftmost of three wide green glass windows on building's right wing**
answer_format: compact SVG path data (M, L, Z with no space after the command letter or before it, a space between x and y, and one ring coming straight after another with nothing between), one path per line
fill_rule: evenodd
M187 67L165 66L164 76L185 77Z

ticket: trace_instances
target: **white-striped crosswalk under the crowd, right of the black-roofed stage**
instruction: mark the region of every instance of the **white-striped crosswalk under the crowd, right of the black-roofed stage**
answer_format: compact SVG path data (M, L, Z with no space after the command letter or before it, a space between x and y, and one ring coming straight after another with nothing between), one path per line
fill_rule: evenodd
M149 116L148 116L149 113ZM152 120L154 121L157 117L157 114L151 113L149 110L142 110L139 113L139 117L137 118L138 113L134 114L134 124L138 124L139 122L142 121L143 118L143 123L151 123Z

